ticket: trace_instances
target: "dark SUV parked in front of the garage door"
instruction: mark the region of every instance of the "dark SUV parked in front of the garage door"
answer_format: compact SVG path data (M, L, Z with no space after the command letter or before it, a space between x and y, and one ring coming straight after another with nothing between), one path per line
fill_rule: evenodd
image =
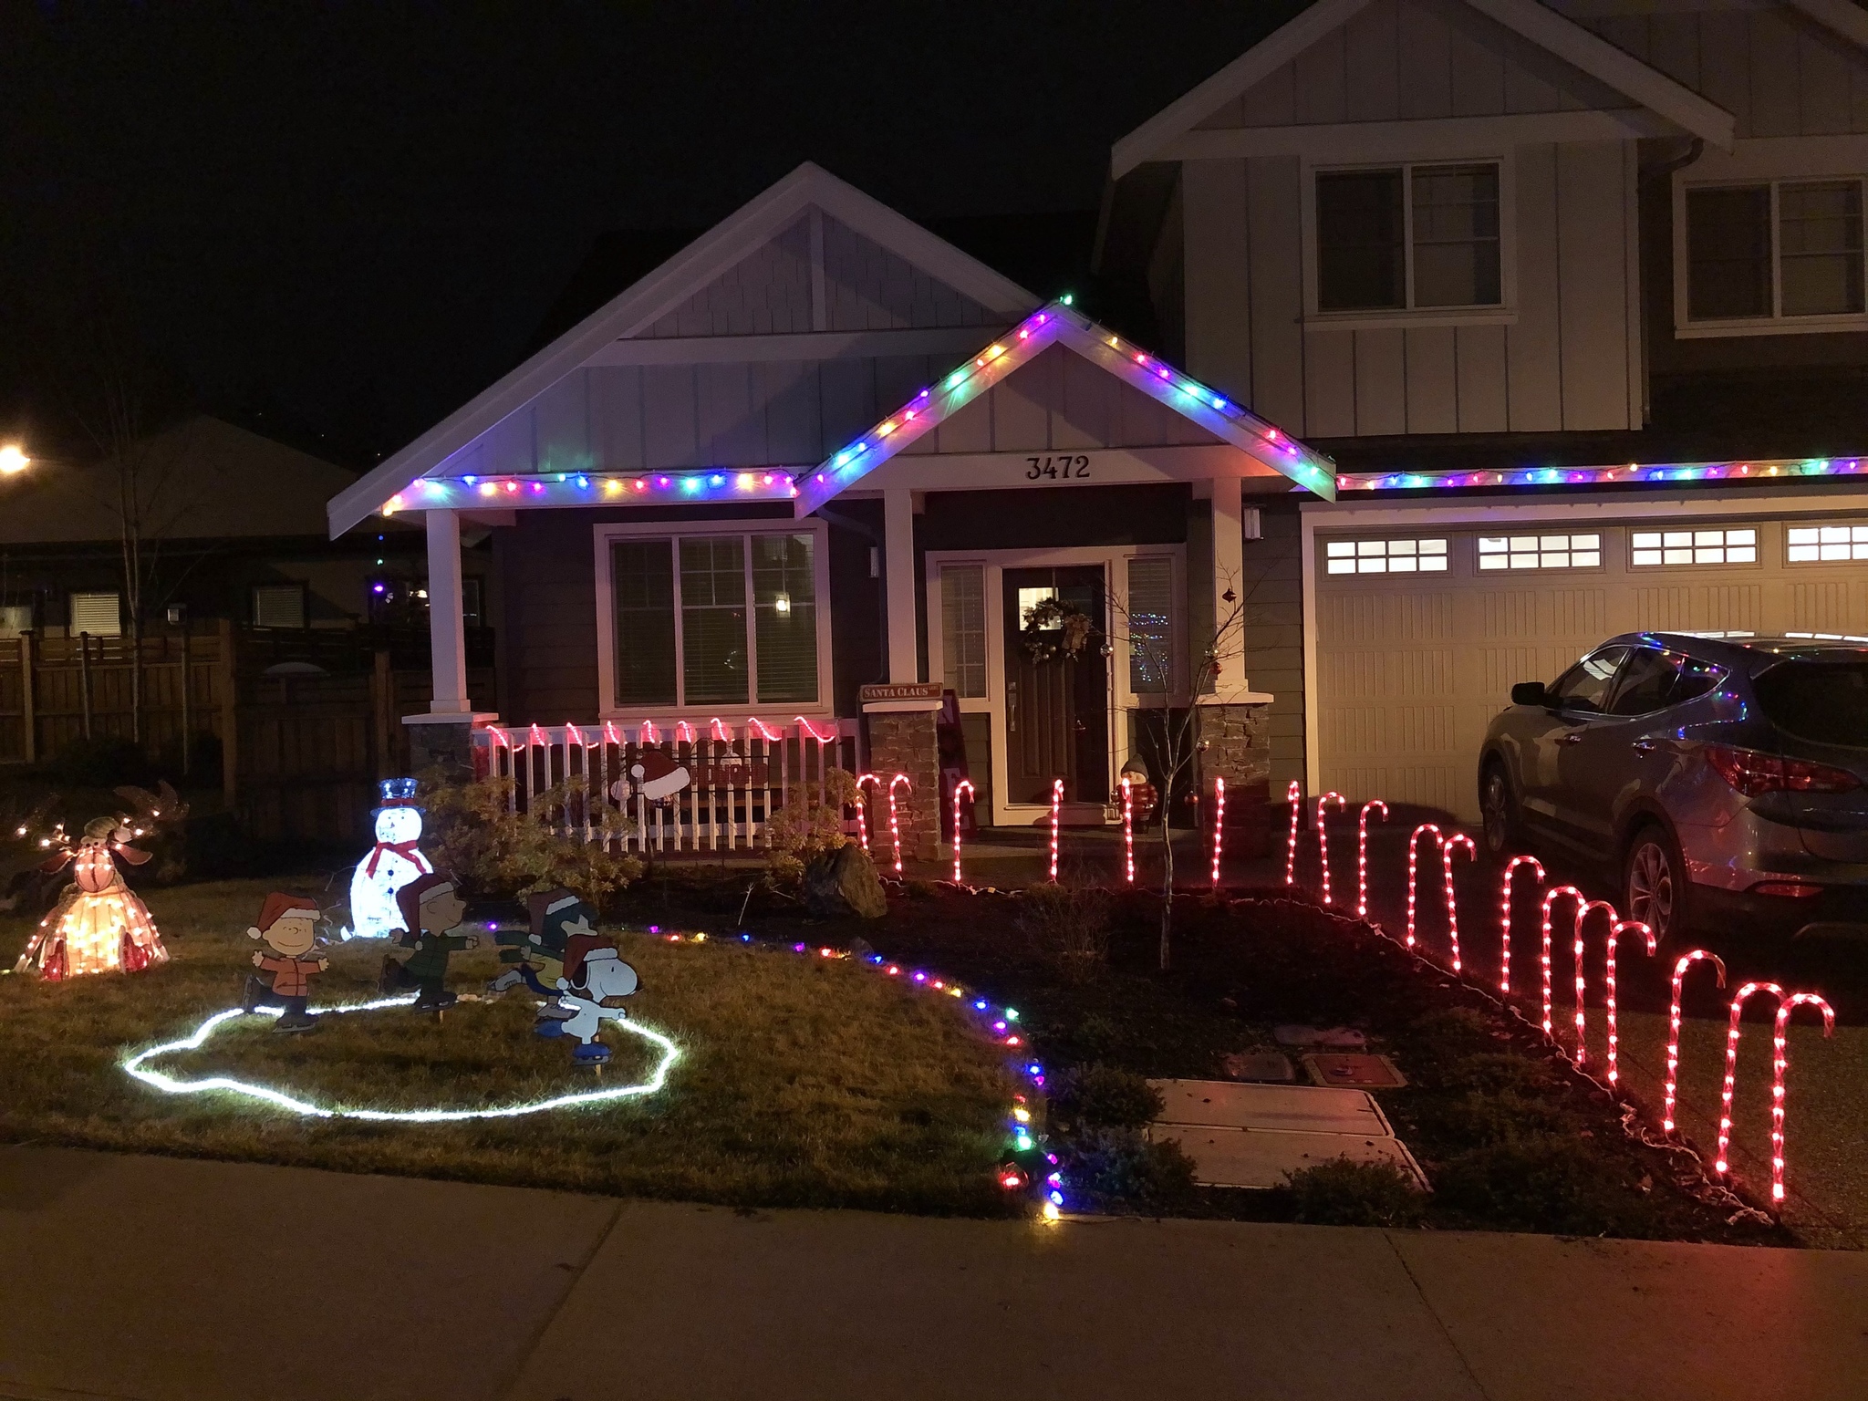
M1868 639L1623 633L1521 682L1485 842L1612 867L1657 934L1868 936Z

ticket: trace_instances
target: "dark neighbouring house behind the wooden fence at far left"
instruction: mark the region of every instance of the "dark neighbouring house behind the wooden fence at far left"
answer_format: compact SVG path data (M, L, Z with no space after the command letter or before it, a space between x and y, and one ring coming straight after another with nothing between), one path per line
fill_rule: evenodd
M123 517L138 521L144 626L170 615L271 630L426 624L420 536L381 523L333 544L325 501L357 474L205 415L151 433L120 471L41 461L0 486L0 635L129 630ZM480 624L486 551L473 560ZM179 611L177 611L179 609Z

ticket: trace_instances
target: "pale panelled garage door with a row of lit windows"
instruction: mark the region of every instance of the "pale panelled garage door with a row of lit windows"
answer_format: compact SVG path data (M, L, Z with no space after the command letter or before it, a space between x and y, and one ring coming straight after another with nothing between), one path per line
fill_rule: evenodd
M1511 684L1554 680L1621 631L1868 635L1862 510L1653 502L1605 521L1595 502L1541 502L1483 525L1384 510L1379 529L1351 529L1354 514L1311 517L1317 775L1354 801L1478 820L1478 747Z

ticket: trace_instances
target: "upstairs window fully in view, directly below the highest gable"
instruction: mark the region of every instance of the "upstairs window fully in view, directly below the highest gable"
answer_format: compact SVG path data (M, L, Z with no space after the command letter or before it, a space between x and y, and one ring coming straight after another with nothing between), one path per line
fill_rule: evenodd
M1317 310L1504 304L1498 163L1317 172Z

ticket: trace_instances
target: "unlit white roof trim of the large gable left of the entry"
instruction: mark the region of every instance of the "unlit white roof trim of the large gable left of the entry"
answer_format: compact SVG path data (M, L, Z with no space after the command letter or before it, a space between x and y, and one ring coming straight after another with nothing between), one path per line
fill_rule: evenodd
M327 506L331 536L336 538L366 519L387 499L435 471L450 454L523 409L611 342L650 329L790 228L813 205L1007 321L1026 316L1039 304L1035 295L1011 278L807 161L405 448L385 458L355 486L331 497Z

